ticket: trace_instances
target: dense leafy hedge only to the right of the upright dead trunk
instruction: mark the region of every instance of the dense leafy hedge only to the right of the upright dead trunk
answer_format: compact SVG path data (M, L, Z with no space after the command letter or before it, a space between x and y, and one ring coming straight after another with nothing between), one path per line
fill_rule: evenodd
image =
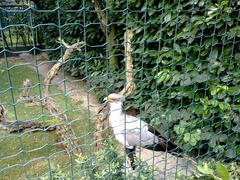
M139 80L133 106L198 157L240 160L239 7L238 1L130 1L140 11L130 13L128 24Z

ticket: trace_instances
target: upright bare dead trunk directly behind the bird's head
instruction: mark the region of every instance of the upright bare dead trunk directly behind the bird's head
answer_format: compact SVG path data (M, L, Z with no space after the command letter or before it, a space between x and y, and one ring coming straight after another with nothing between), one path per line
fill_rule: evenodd
M119 92L124 96L129 96L133 94L136 89L136 84L134 82L133 76L133 60L132 60L132 47L131 47L131 39L133 33L131 30L127 30L124 33L124 48L125 48L125 71L126 71L126 83L125 87ZM107 106L100 108L97 113L96 125L95 125L95 147L96 149L100 149L102 147L102 142L104 140L104 130L107 129L107 118L108 118L109 109Z

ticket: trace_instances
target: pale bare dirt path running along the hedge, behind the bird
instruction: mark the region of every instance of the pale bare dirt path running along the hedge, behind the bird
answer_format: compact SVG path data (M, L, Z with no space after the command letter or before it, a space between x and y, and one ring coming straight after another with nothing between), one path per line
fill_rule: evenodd
M5 59L0 58L0 63ZM46 54L40 54L36 57L28 53L20 56L8 57L7 61L14 64L22 64L29 66L39 72L43 77L47 76L48 71L53 66ZM66 94L76 101L81 101L81 108L89 109L91 118L94 119L101 104L97 101L94 91L89 91L91 85L83 80L73 78L63 71L53 79L52 83L58 84L62 90L66 89ZM141 153L140 153L141 152ZM156 179L176 179L177 174L189 175L193 171L194 162L186 158L176 158L165 152L153 152L146 149L138 150L138 155L143 161L146 161L156 170Z

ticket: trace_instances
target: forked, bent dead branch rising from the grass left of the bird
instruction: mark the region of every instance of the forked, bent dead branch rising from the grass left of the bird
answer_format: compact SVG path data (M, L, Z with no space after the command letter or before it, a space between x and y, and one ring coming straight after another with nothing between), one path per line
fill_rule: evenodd
M77 42L73 45L68 45L64 42L64 40L59 39L59 42L63 44L66 48L66 51L62 58L60 58L56 64L49 70L47 77L44 80L45 91L44 91L44 107L48 109L53 116L57 116L63 123L56 127L56 132L60 136L60 140L63 145L66 147L67 152L74 154L78 154L80 149L80 145L77 141L77 138L74 134L73 129L68 124L68 119L65 114L62 113L60 107L56 101L49 97L50 85L53 78L57 75L63 63L65 63L72 52L76 49L81 51L80 46L84 44L84 42Z

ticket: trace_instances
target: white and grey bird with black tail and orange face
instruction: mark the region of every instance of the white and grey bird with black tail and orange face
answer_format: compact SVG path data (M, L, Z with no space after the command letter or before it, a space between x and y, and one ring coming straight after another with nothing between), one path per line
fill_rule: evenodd
M110 94L104 98L110 104L109 121L116 139L125 146L132 169L135 169L134 157L137 146L154 151L164 151L182 157L182 149L166 138L146 122L123 112L122 104L125 97Z

